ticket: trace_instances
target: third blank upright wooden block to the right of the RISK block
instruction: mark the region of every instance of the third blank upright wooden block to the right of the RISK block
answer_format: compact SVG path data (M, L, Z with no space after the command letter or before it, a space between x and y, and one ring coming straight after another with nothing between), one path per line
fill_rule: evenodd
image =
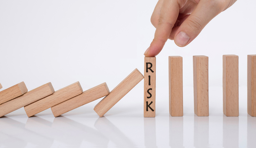
M223 113L238 116L238 56L223 55Z

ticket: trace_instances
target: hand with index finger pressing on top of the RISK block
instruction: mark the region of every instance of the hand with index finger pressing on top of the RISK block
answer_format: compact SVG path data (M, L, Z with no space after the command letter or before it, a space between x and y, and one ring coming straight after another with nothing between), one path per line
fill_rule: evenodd
M216 15L236 0L159 0L151 16L155 37L144 53L156 56L167 39L184 47L193 41Z

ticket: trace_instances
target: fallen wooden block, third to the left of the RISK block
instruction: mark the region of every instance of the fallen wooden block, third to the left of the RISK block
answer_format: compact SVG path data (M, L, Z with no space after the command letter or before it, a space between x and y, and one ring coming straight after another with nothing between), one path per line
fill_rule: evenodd
M44 111L48 108L51 108L59 103L62 103L68 99L71 99L77 95L83 93L83 89L79 82L75 82L71 85L68 85L64 88L61 88L50 95L41 100L38 100L34 103L31 103L24 107L28 117L31 117L41 111Z

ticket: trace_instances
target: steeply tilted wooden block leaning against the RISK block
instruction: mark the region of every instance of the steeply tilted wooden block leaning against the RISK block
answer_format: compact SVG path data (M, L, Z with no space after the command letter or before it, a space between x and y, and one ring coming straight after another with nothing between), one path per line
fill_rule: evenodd
M136 68L121 83L119 83L105 98L103 98L95 107L94 111L102 117L110 108L121 100L134 86L142 79L143 75Z

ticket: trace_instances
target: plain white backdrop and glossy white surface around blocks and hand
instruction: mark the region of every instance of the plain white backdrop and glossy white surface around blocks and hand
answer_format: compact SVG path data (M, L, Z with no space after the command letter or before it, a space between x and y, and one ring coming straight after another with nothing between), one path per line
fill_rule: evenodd
M156 0L0 1L0 83L55 90L79 81L83 90L112 90L137 68L155 28ZM157 56L156 118L143 118L143 80L105 117L96 100L54 118L28 118L23 108L0 118L0 147L254 147L256 119L247 114L247 55L256 54L256 1L238 0L186 47L168 40ZM222 55L239 56L239 117L222 112ZM209 57L209 117L193 110L192 56ZM184 116L170 117L168 56L183 57ZM91 135L91 136L89 136ZM254 140L253 140L254 139ZM15 142L14 142L15 141Z

